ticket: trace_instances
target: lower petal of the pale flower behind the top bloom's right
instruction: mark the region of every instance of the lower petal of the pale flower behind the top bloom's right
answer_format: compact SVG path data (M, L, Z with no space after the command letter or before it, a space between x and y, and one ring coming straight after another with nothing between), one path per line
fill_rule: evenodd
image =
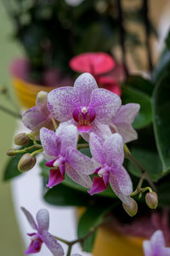
M129 143L138 138L138 134L133 129L132 125L127 123L116 124L116 131L121 134L123 143Z

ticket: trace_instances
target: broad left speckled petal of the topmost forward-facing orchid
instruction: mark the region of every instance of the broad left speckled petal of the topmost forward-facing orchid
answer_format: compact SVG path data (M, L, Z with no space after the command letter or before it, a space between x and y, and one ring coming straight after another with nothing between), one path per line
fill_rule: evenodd
M76 91L72 87L61 87L48 93L48 110L59 122L71 119L73 109L79 105Z

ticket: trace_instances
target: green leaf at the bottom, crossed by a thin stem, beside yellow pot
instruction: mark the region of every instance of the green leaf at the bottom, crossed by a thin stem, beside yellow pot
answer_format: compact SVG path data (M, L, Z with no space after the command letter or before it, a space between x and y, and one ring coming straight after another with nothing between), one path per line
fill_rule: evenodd
M111 210L111 207L109 207L109 209L108 207L88 207L88 209L82 214L82 217L78 222L78 238L86 236L91 229L93 229L96 225L100 224L105 213L109 210ZM94 233L82 243L83 251L88 253L92 252L96 233L97 230L94 231Z

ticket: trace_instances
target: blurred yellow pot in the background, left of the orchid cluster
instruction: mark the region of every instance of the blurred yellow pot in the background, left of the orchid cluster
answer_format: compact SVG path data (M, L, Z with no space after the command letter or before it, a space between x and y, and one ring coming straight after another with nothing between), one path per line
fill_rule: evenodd
M25 108L31 108L36 104L36 96L38 91L45 90L49 92L56 87L42 86L39 84L31 84L23 79L12 77L12 84L14 85L14 91L19 99L20 105Z

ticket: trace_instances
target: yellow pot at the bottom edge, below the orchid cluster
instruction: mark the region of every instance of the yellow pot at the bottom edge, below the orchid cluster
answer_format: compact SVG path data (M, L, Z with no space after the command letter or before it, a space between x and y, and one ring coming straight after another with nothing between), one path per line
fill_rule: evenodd
M94 244L94 256L144 256L143 239L101 227Z

